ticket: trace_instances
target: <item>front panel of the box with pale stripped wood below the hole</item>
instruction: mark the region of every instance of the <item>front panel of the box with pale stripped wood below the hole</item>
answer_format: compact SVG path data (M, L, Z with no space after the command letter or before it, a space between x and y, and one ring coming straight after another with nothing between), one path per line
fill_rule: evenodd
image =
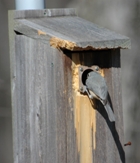
M75 128L80 163L125 163L120 50L72 52L72 62ZM101 68L116 122L109 121L98 100L91 103L87 95L79 92L78 68L81 65L98 65Z

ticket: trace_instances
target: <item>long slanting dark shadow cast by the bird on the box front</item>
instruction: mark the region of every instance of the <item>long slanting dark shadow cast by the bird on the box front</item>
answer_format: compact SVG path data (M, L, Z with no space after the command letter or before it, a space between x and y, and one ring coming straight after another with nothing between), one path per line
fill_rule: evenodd
M111 104L111 107L112 107L112 103L111 103L111 100L110 100L110 96L109 96L109 102ZM103 104L99 101L99 100L95 100L96 103L96 110L102 115L102 117L105 119L110 131L111 131L111 134L114 138L114 141L115 141L115 144L117 146L117 149L118 149L118 152L119 152L119 155L120 155L120 159L122 161L122 163L125 163L125 152L124 152L124 149L122 147L122 144L120 142L120 139L119 139L119 135L118 135L118 132L116 130L116 126L115 126L115 122L111 122L108 118L108 115L107 115L107 112L106 110L104 109L104 106ZM92 102L91 102L92 104ZM92 104L93 105L93 104ZM95 106L94 106L95 107ZM113 107L112 107L113 108Z

